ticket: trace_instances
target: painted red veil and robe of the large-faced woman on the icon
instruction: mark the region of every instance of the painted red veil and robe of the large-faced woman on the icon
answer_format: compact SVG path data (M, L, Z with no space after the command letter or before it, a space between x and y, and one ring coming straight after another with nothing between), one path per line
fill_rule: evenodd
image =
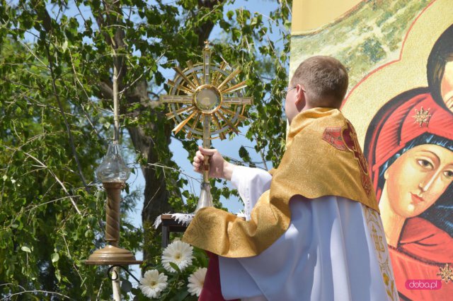
M429 109L428 123L415 122L417 110ZM378 113L379 114L379 113ZM367 161L379 201L382 187L378 187L379 169L389 158L401 151L414 138L435 134L453 140L452 112L437 105L429 93L411 99L399 98L379 114L368 140ZM452 283L442 282L440 290L408 290L408 279L440 279L440 267L453 261L453 238L423 218L410 218L402 229L398 248L389 246L398 293L410 300L452 300Z

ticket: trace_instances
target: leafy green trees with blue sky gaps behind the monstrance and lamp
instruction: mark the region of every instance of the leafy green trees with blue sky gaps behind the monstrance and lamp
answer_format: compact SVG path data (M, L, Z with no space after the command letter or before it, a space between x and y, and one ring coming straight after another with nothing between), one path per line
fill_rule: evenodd
M232 3L0 0L0 298L110 298L106 267L83 261L104 244L105 193L94 169L113 137L113 64L120 70L120 138L146 181L144 191L126 188L121 246L143 249L147 264L161 252L154 218L168 209L191 212L197 200L184 191L187 179L168 148L172 124L158 100L168 89L163 70L200 61L209 38L214 60L241 66L248 80L255 104L246 138L263 160L278 164L291 1L278 1L270 16L229 10ZM222 28L220 37L210 37L214 26ZM192 157L195 143L183 145ZM250 163L246 148L238 149ZM214 199L231 195L222 183L212 184ZM127 213L141 196L137 229Z

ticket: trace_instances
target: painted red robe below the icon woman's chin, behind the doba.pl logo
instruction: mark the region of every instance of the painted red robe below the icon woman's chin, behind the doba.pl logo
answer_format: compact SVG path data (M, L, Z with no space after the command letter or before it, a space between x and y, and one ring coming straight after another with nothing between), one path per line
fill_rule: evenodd
M398 293L410 300L452 300L453 285L442 281L440 290L408 290L408 280L440 279L437 273L453 261L453 239L423 218L410 218L397 249L389 246Z

